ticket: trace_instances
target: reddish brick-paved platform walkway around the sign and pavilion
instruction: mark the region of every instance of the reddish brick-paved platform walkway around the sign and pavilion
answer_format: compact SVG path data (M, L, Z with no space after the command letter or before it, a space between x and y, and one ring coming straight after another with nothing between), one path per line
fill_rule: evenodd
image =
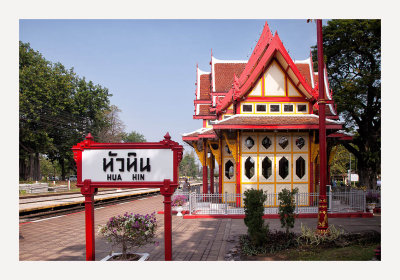
M143 198L128 203L116 204L95 210L95 225L104 224L115 215L125 212L152 213L163 210L163 197ZM150 253L151 261L164 260L164 221L157 214L159 227L156 240L158 247L146 245L137 252ZM279 230L279 219L266 220L271 230ZM300 224L316 227L316 219L296 220L295 232L300 232ZM331 218L329 224L349 232L361 230L381 230L380 216L373 218ZM245 234L242 219L182 219L172 217L172 259L174 261L217 261L238 242L239 235ZM85 260L84 212L69 214L19 226L20 260ZM115 249L114 251L120 251ZM96 234L96 260L110 252L110 246Z

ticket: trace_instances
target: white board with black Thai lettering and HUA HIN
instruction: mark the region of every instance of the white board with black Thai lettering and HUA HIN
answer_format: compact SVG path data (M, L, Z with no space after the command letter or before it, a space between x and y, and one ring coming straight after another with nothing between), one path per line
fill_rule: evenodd
M82 151L82 181L161 182L173 180L169 149L88 149Z

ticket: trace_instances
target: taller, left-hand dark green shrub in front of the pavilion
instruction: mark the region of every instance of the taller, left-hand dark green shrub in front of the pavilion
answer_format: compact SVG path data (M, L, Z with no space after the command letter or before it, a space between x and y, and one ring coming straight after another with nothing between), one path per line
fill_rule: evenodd
M262 246L268 239L269 226L264 225L264 202L267 195L262 190L250 189L244 192L244 223L251 243Z

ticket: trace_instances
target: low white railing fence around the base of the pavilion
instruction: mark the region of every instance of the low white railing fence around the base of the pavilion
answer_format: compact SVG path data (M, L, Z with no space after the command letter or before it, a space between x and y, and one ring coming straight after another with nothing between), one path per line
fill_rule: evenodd
M189 215L235 215L244 214L243 196L241 194L203 194L199 192L184 192L177 190L177 195L184 195L186 203L183 210ZM318 213L318 193L297 193L295 195L295 213ZM348 213L365 212L366 193L364 191L328 192L328 212ZM264 214L278 214L278 194L267 194L264 204Z

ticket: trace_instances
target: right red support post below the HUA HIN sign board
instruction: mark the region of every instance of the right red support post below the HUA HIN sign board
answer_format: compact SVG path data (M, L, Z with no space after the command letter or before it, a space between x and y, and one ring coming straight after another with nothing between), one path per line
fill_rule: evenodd
M172 213L171 213L171 182L170 180L164 180L164 190L162 195L164 196L164 249L165 249L165 260L172 260Z

